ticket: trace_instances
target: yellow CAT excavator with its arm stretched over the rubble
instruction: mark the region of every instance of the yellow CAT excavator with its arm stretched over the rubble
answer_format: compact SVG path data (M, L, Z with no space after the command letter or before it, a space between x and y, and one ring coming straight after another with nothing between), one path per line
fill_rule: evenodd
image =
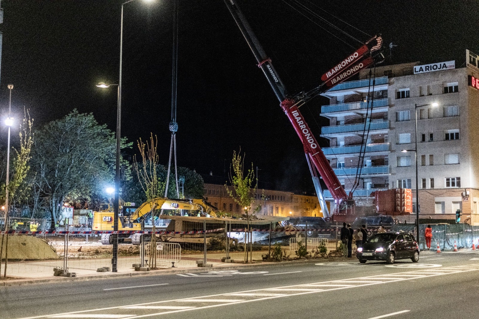
M217 217L217 208L205 202L203 199L169 199L154 198L139 207L123 205L118 213L118 230L141 230L141 222L152 212L156 210L182 210L189 211L188 216L211 216ZM160 213L159 213L160 214ZM114 212L100 211L94 212L93 224L91 230L113 230ZM126 242L131 239L131 243L139 245L142 240L148 241L151 235L144 234L118 234L118 242ZM113 244L111 234L102 234L103 245Z

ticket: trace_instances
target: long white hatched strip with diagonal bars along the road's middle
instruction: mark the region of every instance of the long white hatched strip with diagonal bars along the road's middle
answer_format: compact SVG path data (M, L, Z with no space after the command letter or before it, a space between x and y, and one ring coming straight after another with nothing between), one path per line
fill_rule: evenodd
M479 263L476 264L468 264L468 265L462 265L462 266L456 266L456 267L467 267L466 269L455 269L455 267L446 267L441 270L443 271L451 271L451 273L466 273L466 272L471 272L471 271L479 271ZM197 306L195 308L189 308L189 309L178 309L178 310L171 310L171 311L162 311L162 312L157 312L157 313L147 313L147 314L142 314L142 315L135 315L135 314L130 314L128 317L123 317L127 319L137 319L137 318L147 318L147 317L153 317L153 316L160 316L160 315L165 315L165 314L170 314L170 313L177 313L177 312L184 312L184 311L190 311L190 310L197 310L197 309L206 309L206 308L215 308L215 307L222 307L222 306L230 306L230 305L237 305L237 304L242 304L242 303L247 303L247 302L253 302L253 301L262 301L262 300L269 300L269 299L274 299L274 298L280 298L280 297L286 297L286 296L299 296L299 295L306 295L306 294L317 294L319 292L324 293L324 292L329 292L329 291L335 291L335 290L342 290L342 289L348 289L348 288L355 288L355 287L364 287L364 286L370 286L370 285L379 285L379 284L391 284L395 282L400 282L400 281L406 281L406 280L411 280L411 279L418 279L418 278L425 278L425 277L433 277L433 276L440 276L444 274L449 274L449 273L434 273L430 275L421 275L418 274L418 272L421 272L420 270L416 271L407 271L407 272L400 272L400 273L393 273L393 274L385 274L387 276L399 276L397 279L389 280L389 281L381 281L381 282L374 282L374 283L358 283L357 285L347 285L347 286L332 286L329 289L322 289L319 291L305 291L305 292L294 292L290 294L279 294L279 296L264 296L265 292L267 292L267 289L271 288L295 288L295 287L305 287L305 284L302 285L289 285L289 286L280 286L280 287L271 287L271 288L262 288L262 289L253 289L253 290L246 290L246 291L239 291L236 293L223 293L223 294L216 294L216 295L209 295L209 296L197 296L197 297L190 297L190 298L182 298L182 299L171 299L171 300L163 300L163 301L155 301L155 302L148 302L148 303L141 303L141 304L134 304L134 305L124 305L124 306L116 306L116 307L108 307L108 308L98 308L98 309L89 309L89 310L81 310L81 311L72 311L68 313L59 313L59 314L50 314L50 315L42 315L42 316L34 316L34 317L26 317L26 318L21 318L21 319L34 319L34 318L47 318L47 317L55 317L55 316L63 316L63 317L57 317L57 318L72 318L71 315L77 315L77 314L87 314L89 317L82 317L82 318L95 318L92 312L100 312L102 313L105 312L105 310L115 310L118 311L119 308L124 308L124 307L133 307L133 306L152 306L152 305L174 305L176 302L212 302L212 300L224 300L223 303L217 303L217 304L212 304L212 305L207 305L207 306ZM371 279L378 279L376 278L379 275L372 275L370 276ZM411 276L413 278L411 278ZM362 277L356 277L356 278L349 278L346 280L343 280L343 282L347 282L347 280L354 281L356 279L360 278L366 278L364 276ZM325 281L325 282L318 282L318 283L311 283L309 285L328 285L328 284L336 284L338 282L337 280L331 280L331 281ZM249 294L250 298L248 299L235 299L239 301L233 301L233 299L212 299L212 298L221 298L221 297L229 297L233 295L238 295L238 294ZM256 295L258 296L257 298L254 298L254 296L251 295ZM69 316L66 316L69 315ZM77 317L80 318L80 317Z

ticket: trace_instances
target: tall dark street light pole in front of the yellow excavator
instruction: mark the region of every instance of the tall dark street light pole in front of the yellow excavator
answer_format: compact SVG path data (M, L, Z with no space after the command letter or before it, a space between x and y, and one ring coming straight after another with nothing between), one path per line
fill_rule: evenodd
M114 196L114 219L113 230L118 231L118 204L119 204L119 192L120 192L120 142L121 142L121 84L122 84L122 59L123 59L123 6L131 1L128 0L121 5L121 19L120 19L120 70L118 84L106 84L100 82L98 87L108 88L111 85L118 85L118 108L116 112L116 163L115 163L115 196ZM144 0L150 2L151 0ZM112 272L117 272L118 261L118 234L113 234L113 258L112 258Z

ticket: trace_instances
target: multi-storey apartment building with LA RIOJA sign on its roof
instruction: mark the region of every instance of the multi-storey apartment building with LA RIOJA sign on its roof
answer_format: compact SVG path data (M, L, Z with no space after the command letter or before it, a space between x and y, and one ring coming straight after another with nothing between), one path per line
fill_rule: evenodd
M461 209L462 220L479 224L479 57L466 56L461 68L455 61L377 67L374 82L364 70L323 94L330 99L321 107L330 120L323 151L347 193L411 188L415 208L417 153L420 218L454 218Z

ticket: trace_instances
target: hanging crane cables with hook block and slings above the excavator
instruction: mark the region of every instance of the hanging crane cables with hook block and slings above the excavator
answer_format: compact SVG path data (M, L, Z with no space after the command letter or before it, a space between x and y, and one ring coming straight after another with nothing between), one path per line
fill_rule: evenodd
M178 187L178 169L176 165L176 132L178 123L176 122L176 94L178 83L178 0L173 1L173 61L171 70L171 121L169 128L171 131L170 158L168 160L168 174L166 175L165 197L168 195L168 185L170 183L171 156L174 153L175 159L175 186L176 198L180 198Z

